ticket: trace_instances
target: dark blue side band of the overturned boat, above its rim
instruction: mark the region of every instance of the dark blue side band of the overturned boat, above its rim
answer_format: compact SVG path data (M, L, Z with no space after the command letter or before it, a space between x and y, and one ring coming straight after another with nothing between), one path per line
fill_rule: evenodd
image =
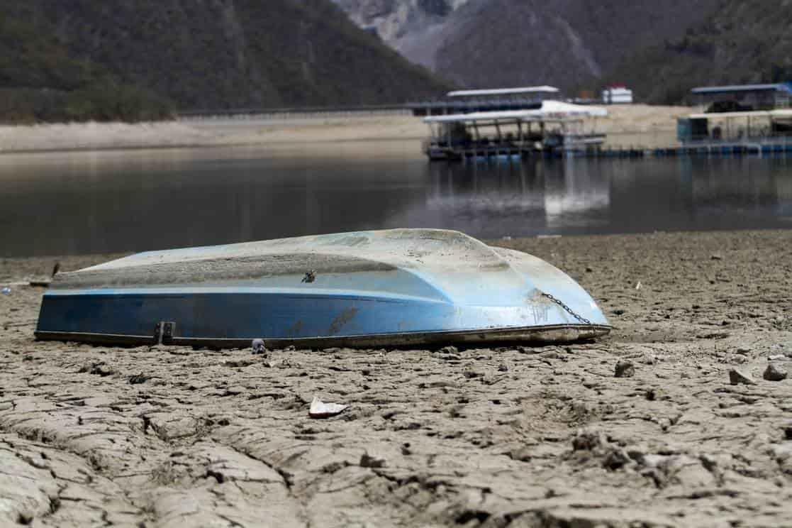
M492 327L580 324L554 304L455 306L421 297L344 293L49 293L37 331L154 335L160 321L183 338L301 339Z

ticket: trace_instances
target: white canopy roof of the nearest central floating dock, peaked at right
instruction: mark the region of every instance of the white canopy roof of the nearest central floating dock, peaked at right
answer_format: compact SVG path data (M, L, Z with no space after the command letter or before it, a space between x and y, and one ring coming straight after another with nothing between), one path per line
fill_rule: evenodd
M606 117L600 106L573 105L563 101L543 101L542 107L531 110L501 112L455 113L447 116L425 117L425 123L475 123L480 121L565 121L575 117Z

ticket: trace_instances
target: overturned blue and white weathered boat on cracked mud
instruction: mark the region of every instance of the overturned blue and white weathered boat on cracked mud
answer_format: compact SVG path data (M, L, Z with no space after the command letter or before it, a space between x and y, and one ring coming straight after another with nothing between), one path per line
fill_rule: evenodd
M610 331L529 254L394 229L150 251L55 276L37 339L210 347L569 342Z

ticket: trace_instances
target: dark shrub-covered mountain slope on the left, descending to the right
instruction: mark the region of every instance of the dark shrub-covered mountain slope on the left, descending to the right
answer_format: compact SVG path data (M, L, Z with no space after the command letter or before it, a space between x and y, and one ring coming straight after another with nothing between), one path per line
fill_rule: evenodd
M101 78L179 109L220 109L383 104L447 88L329 0L0 0L0 20L18 33L2 39L0 90L17 94Z

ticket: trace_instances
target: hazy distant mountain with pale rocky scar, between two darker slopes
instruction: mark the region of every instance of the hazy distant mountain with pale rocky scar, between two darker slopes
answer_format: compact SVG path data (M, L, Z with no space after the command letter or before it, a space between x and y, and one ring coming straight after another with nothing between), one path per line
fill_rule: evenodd
M380 35L463 86L554 84L571 90L636 48L682 36L719 0L469 0L444 2L424 25ZM337 0L353 20L390 20L417 0ZM379 13L364 17L366 10ZM409 18L409 17L408 17Z

